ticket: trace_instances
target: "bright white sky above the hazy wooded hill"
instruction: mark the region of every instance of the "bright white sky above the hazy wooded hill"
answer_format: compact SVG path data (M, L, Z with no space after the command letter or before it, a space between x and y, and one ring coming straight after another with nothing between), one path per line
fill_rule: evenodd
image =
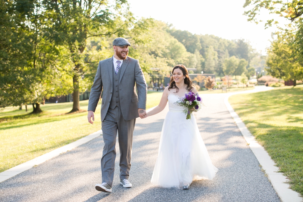
M254 49L266 54L270 46L271 32L276 28L264 29L264 24L247 22L243 15L245 0L128 0L130 10L138 17L151 17L176 29L193 34L213 34L224 39L249 40ZM267 11L259 19L266 21L271 16ZM278 17L280 22L287 21Z

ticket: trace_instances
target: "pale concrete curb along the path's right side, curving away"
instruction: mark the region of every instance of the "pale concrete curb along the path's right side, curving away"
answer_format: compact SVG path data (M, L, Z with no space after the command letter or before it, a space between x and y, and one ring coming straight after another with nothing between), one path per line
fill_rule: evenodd
M240 129L246 142L249 144L251 151L259 161L262 168L265 170L269 181L277 192L282 202L302 202L303 198L299 196L299 193L289 188L288 179L279 173L279 168L275 166L275 162L268 155L267 151L255 140L255 137L250 133L245 124L242 122L238 114L233 110L233 107L229 104L228 98L237 93L228 95L224 98L224 103L235 120L238 128Z

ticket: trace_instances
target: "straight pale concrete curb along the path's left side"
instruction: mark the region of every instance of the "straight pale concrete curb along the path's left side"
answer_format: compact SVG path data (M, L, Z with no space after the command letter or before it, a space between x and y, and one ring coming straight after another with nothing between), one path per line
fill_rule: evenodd
M60 154L67 152L69 150L72 150L75 147L80 146L81 144L87 143L88 141L100 136L102 134L102 130L100 131L96 131L90 135L87 135L79 140L76 140L75 142L72 142L70 144L66 144L63 147L60 147L58 149L55 149L49 153L43 154L39 157L36 157L30 161L24 162L20 165L16 165L13 168L10 168L8 170L3 171L2 173L0 173L0 183L16 176L17 174L20 174L22 172L24 172L25 170L31 169L33 166L35 165L39 165L53 157L59 156Z

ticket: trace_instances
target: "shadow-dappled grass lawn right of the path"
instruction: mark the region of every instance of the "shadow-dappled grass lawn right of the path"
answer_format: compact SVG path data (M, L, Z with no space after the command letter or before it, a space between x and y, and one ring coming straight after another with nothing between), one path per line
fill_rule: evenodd
M291 188L303 195L303 85L233 95L228 101Z

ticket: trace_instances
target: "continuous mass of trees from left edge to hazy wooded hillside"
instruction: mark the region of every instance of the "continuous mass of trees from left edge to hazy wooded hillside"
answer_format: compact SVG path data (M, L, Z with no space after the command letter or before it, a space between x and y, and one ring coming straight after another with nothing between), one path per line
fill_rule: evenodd
M136 19L125 0L0 2L0 107L33 104L40 112L45 99L72 93L71 111L79 111L79 94L91 87L98 61L112 57L116 37L129 39L129 56L139 59L147 78L155 70L169 75L177 64L196 68L191 73L223 76L224 61L230 57L247 61L239 62L242 66L233 74L252 75L250 64L258 65L249 41Z

